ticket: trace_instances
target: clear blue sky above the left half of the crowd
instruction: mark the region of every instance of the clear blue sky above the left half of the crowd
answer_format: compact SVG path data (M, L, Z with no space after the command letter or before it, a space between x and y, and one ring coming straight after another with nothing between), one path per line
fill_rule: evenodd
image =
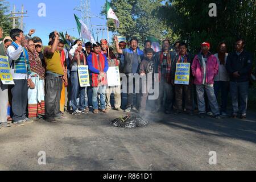
M77 31L76 21L73 14L76 14L81 18L81 12L73 10L75 7L80 5L79 0L72 1L61 1L61 0L6 0L10 3L10 8L13 10L13 6L16 6L16 11L21 11L22 5L24 5L24 10L28 11L28 16L23 18L25 24L24 32L27 34L32 28L36 30L34 36L39 36L43 40L44 45L48 45L48 35L50 32L57 31L68 31L68 34L79 38L79 33ZM38 16L38 5L39 3L46 4L46 17ZM93 17L91 19L94 25L105 25L106 20L104 16L100 15L102 6L105 5L105 0L91 0L90 1L90 11L92 15L100 16L101 18ZM94 37L97 41L97 30L93 27ZM110 32L110 38L112 33ZM98 39L102 38L102 31L98 34ZM107 39L107 31L104 31L104 38Z

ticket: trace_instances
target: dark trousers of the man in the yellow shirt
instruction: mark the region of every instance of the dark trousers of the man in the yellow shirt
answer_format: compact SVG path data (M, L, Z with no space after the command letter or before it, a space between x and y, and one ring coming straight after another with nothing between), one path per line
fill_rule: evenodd
M46 119L60 117L62 82L62 77L46 75Z

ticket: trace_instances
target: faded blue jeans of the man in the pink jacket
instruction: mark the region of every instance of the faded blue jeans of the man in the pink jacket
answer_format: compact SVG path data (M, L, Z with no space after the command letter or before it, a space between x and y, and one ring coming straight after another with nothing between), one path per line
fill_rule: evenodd
M213 115L219 115L220 111L218 110L218 102L214 94L214 88L213 86L208 85L196 85L196 96L199 114L205 113L204 93L207 93L207 98Z

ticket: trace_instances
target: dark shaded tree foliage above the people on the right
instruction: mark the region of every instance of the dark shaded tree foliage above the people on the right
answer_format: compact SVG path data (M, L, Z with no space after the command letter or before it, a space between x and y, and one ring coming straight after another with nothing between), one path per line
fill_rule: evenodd
M217 16L210 17L208 7L216 3ZM216 52L218 42L224 40L229 51L238 37L246 41L246 49L255 53L256 8L255 0L169 0L156 11L181 40L188 43L193 53L201 42L210 42Z

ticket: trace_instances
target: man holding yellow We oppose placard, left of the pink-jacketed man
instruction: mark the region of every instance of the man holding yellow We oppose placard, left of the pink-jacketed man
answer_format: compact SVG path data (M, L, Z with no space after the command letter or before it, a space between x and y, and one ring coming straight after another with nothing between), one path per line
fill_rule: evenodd
M191 72L191 55L187 53L187 45L179 44L179 54L175 56L172 65L172 84L175 85L175 115L183 112L183 95L185 96L186 113L192 115L192 74Z

